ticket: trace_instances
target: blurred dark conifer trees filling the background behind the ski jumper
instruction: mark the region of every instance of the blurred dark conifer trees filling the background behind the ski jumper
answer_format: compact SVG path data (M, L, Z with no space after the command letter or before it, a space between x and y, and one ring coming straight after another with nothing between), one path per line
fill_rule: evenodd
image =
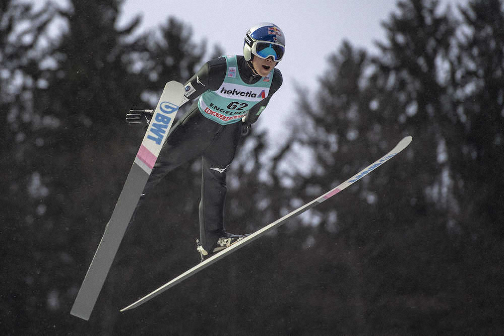
M200 163L149 195L89 321L70 309L141 142L131 108L207 59L171 17L117 28L122 1L0 5L5 335L499 334L504 272L504 4L400 1L374 54L334 50L277 147L257 128L228 173L250 232L362 181L131 312L198 262ZM168 15L169 13L167 13ZM239 42L239 41L238 41ZM281 69L281 64L279 65ZM268 113L266 110L265 113Z

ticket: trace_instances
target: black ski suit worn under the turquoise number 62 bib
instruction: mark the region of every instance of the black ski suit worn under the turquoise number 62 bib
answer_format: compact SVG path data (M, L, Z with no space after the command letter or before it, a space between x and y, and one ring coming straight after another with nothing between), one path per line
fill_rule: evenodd
M245 84L254 84L263 79L254 76L243 56L237 56L237 65L239 76ZM224 57L208 61L185 83L185 87L191 83L195 89L187 98L195 99L206 90L218 90L226 72ZM143 194L149 193L169 171L201 156L200 240L207 251L213 250L217 239L225 232L226 169L233 161L242 129L257 120L281 85L282 75L278 69L274 69L268 96L250 108L244 122L240 119L235 123L221 125L204 116L196 100L191 109L173 126L161 149Z

